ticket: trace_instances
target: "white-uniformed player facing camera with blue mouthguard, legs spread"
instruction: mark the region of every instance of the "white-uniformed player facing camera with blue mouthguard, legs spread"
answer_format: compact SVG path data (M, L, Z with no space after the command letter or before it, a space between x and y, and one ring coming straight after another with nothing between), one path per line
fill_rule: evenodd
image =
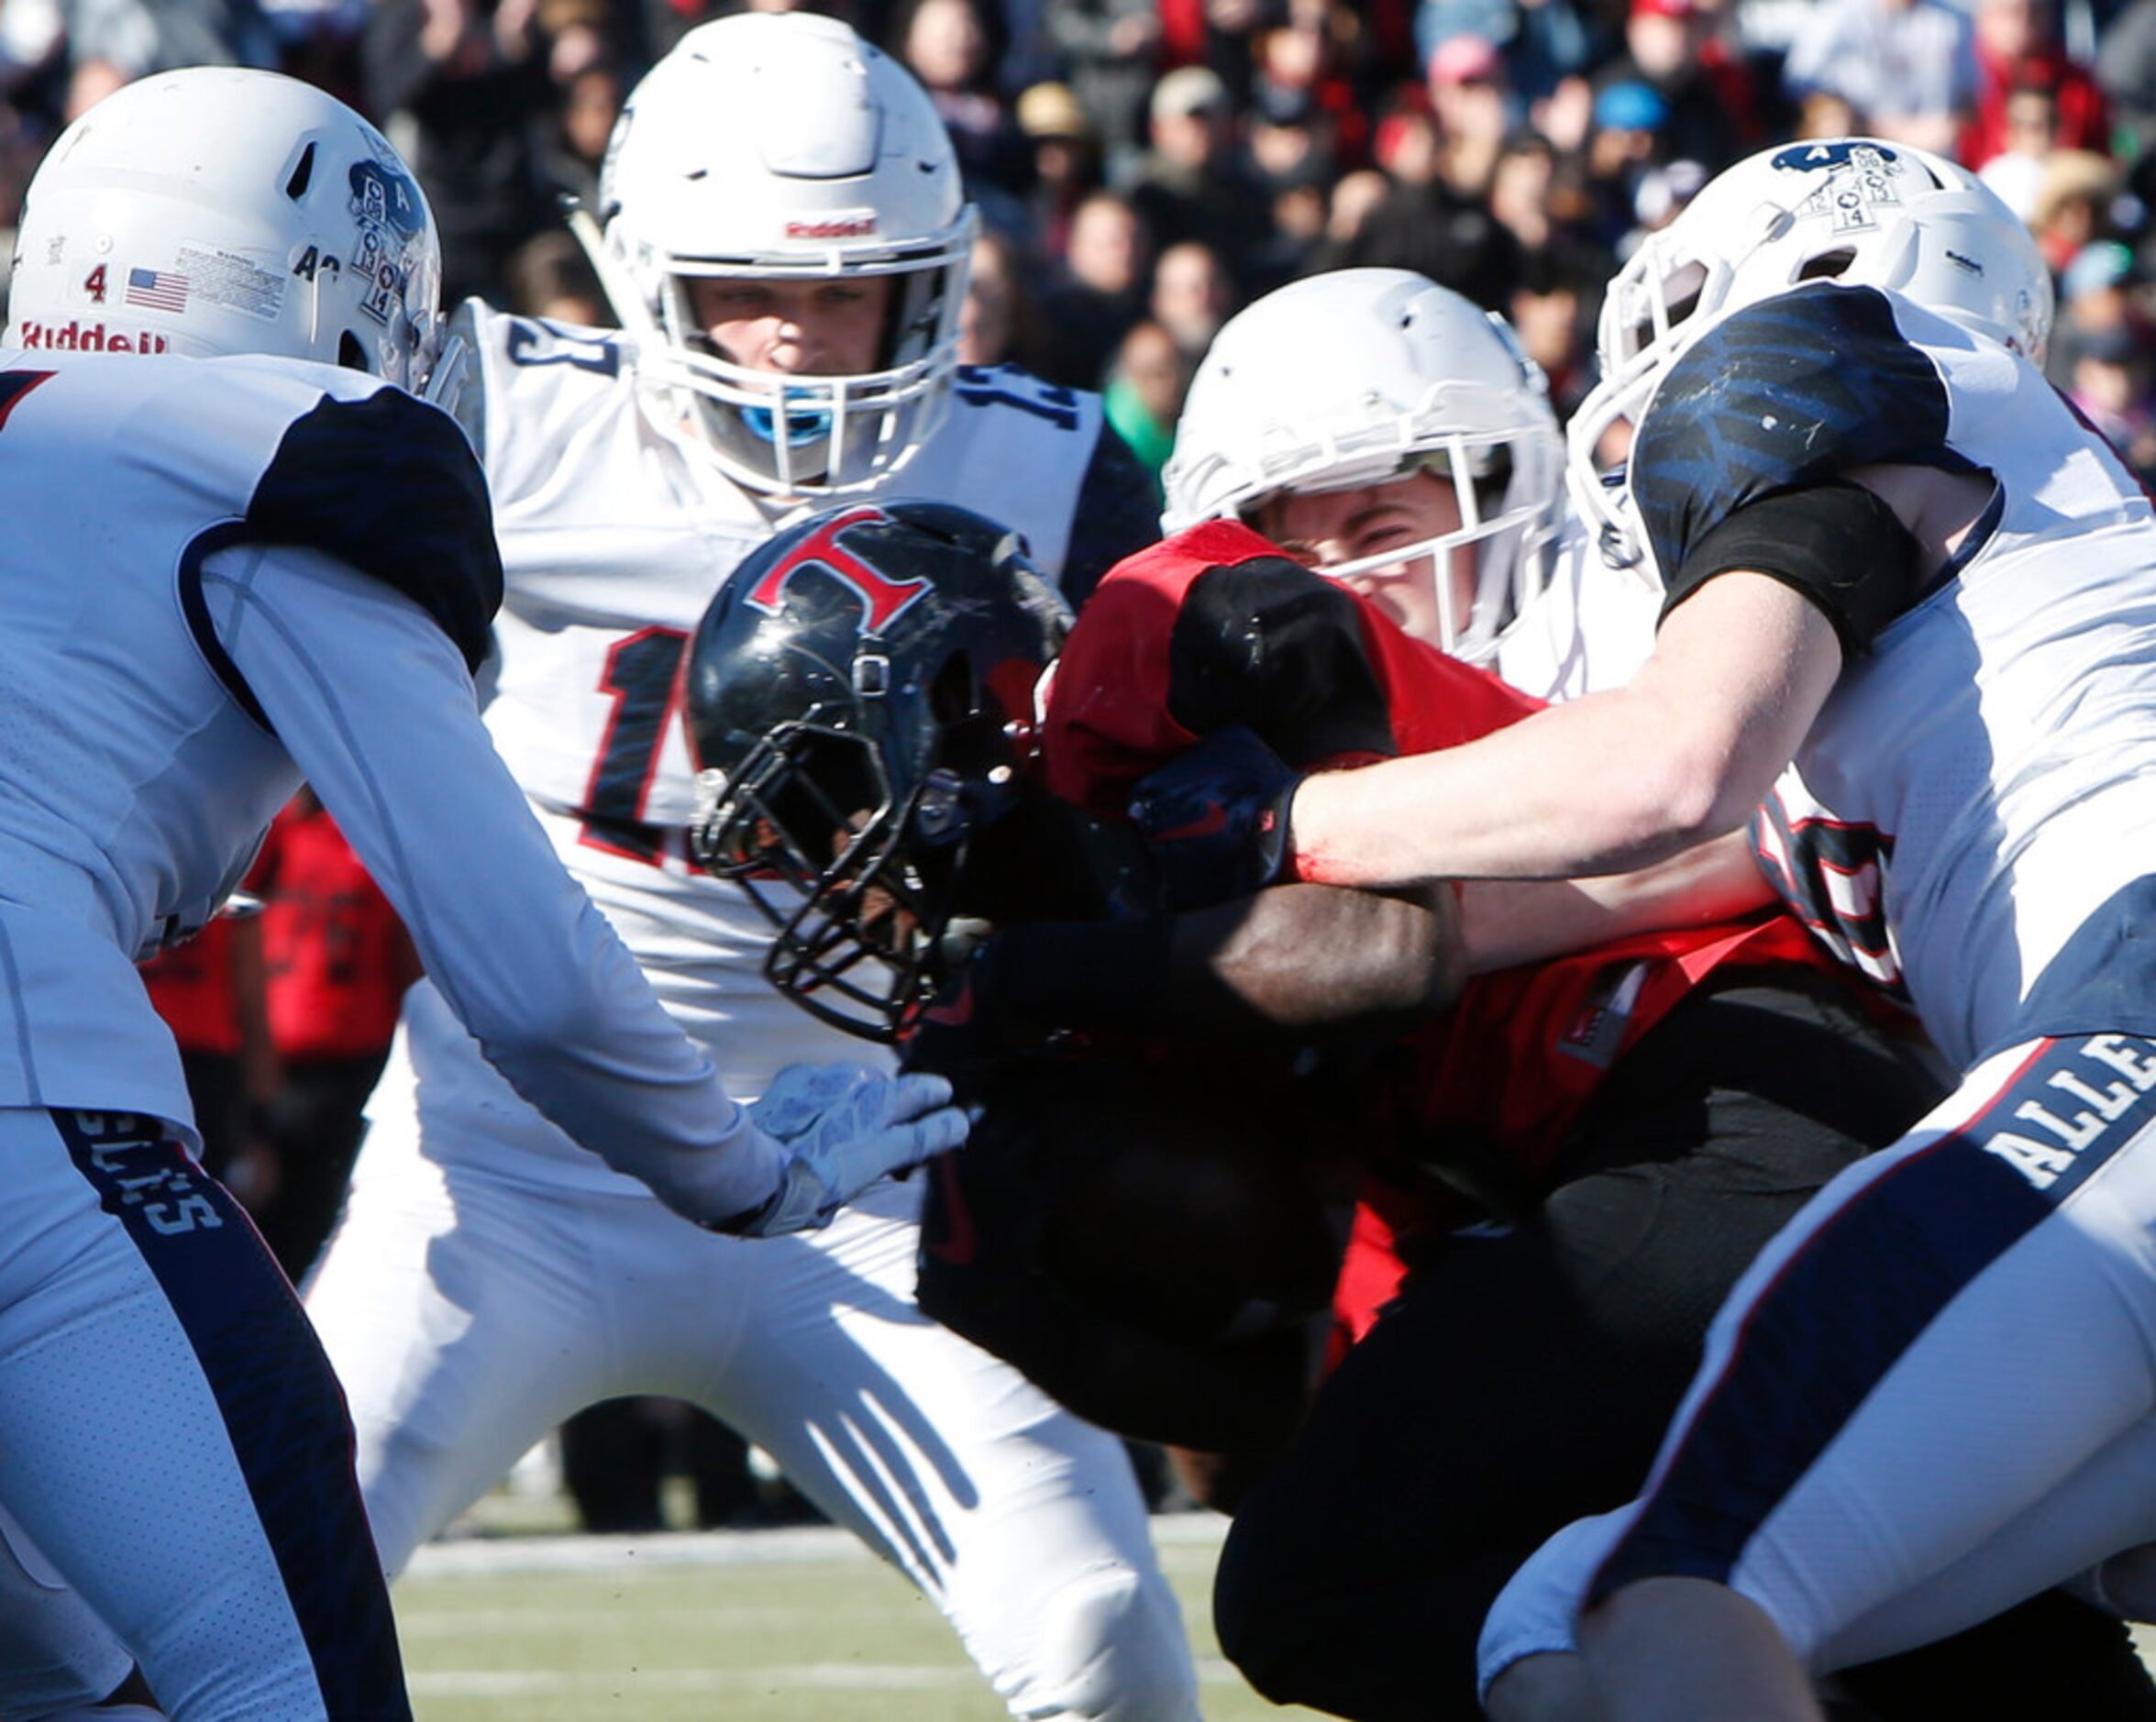
M457 317L507 565L485 718L660 1000L755 1095L862 1045L774 991L772 927L688 864L677 664L711 595L834 500L975 502L1065 593L1153 522L1095 397L957 369L975 213L923 91L843 24L686 34L627 101L597 218L625 332ZM906 597L832 565L875 623ZM757 1256L573 1155L446 1004L410 996L308 1287L390 1571L571 1412L668 1394L899 1565L1013 1713L1194 1713L1121 1444L914 1308L918 1183Z

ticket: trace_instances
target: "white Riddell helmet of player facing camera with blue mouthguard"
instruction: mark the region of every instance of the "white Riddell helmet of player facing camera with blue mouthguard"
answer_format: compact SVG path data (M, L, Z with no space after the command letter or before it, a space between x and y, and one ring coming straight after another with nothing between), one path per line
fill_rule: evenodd
M602 280L642 334L642 375L694 412L750 489L880 483L951 403L975 211L923 88L845 24L740 13L690 30L630 93L599 175ZM787 375L729 362L694 276L890 276L875 371Z

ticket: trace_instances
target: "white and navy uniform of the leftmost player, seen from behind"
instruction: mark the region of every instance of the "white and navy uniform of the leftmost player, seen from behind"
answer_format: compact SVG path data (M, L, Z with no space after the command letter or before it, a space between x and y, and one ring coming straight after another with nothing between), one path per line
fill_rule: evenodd
M304 774L524 1095L714 1216L776 1151L724 1151L746 1114L476 722L500 569L442 414L289 360L15 353L0 438L0 1504L172 1716L405 1716L343 1405L192 1159L134 959Z

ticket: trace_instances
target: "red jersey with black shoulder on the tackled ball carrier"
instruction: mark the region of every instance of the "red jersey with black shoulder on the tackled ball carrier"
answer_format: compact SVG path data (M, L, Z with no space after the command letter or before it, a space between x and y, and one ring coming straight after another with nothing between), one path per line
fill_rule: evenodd
M1257 731L1300 769L1434 752L1514 724L1537 700L1406 636L1348 586L1233 522L1194 526L1108 573L1054 670L1048 784L1119 815L1132 787L1197 737ZM1380 1140L1475 1142L1535 1188L1602 1078L1716 970L1826 968L1787 916L1643 933L1477 976L1408 1037L1406 1080L1371 1095ZM1373 1170L1384 1172L1380 1153ZM1358 1213L1337 1315L1360 1338L1399 1287L1395 1239L1416 1203Z

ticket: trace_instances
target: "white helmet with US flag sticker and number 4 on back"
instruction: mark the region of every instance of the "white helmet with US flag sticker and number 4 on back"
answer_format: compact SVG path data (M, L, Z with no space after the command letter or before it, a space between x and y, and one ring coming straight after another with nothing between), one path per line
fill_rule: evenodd
M388 138L332 95L244 67L123 84L24 194L6 347L278 353L420 392L442 248Z

